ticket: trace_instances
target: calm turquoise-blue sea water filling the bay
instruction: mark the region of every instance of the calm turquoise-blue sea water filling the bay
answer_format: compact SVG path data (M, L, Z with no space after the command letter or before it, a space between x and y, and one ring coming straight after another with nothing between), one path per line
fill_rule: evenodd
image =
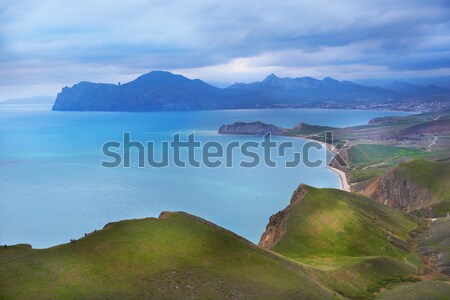
M111 221L156 217L165 210L195 214L258 242L270 215L289 203L298 184L338 188L337 175L324 165L314 169L103 168L103 143L121 141L123 132L143 142L171 140L177 132L185 138L195 132L203 142L225 145L262 139L216 134L220 125L236 121L344 127L406 114L305 109L51 112L48 107L4 106L0 108L0 244L50 247ZM296 149L305 143L277 140L291 140ZM235 155L236 161L241 158ZM324 152L312 155L323 157Z

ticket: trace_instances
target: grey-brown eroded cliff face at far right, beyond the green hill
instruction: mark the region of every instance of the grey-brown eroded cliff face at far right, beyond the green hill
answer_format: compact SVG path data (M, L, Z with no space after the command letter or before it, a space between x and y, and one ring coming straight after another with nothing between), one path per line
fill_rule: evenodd
M396 169L356 184L353 191L392 208L406 212L421 211L428 217L431 216L432 205L436 203L428 189L417 184L411 174Z

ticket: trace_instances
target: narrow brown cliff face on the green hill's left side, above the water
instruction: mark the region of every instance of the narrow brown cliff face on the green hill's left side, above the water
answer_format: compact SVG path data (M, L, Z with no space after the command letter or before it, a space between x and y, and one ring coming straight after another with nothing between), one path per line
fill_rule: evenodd
M301 201L307 193L308 188L305 185L300 184L292 194L289 206L270 217L269 224L267 224L266 230L258 243L260 247L272 249L276 245L286 232L286 220L289 217L290 207Z

